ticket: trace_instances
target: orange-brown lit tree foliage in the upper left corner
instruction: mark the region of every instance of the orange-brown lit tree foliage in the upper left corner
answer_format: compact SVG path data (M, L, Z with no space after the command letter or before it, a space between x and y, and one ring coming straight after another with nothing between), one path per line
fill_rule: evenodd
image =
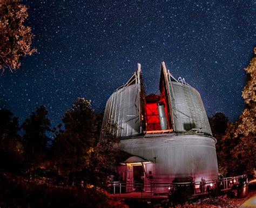
M31 56L36 49L31 49L31 27L24 25L28 17L28 7L18 1L2 1L0 4L0 70L10 71L21 66L19 60L26 55Z

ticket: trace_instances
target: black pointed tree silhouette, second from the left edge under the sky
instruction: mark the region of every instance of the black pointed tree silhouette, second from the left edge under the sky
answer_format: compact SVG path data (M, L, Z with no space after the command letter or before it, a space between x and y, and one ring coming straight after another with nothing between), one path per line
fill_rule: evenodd
M51 132L51 123L47 115L48 111L44 105L41 105L36 109L36 113L32 112L21 126L25 133L23 135L24 157L29 174L31 169L35 170L41 165L48 151L50 138L46 133Z

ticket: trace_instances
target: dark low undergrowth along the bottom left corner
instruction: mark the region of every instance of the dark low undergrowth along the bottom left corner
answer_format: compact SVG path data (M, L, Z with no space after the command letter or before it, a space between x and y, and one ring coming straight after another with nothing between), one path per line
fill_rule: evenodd
M0 172L0 193L1 207L110 207L102 189L47 187L5 172Z

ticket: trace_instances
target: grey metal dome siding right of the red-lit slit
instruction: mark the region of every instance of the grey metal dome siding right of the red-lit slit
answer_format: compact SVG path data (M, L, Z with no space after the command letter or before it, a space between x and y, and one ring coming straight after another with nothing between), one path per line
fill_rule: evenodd
M201 128L202 133L212 135L203 102L196 89L189 85L180 85L175 81L172 81L172 88L174 100L170 102L173 106L176 132Z

